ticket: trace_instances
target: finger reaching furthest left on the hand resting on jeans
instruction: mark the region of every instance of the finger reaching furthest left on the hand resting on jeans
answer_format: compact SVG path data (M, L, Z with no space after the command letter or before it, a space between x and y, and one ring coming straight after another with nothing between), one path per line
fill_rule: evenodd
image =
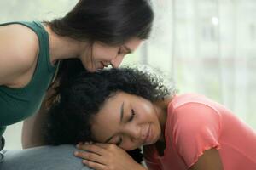
M82 158L82 159L85 159L87 161L95 161L97 163L101 163L103 165L106 165L106 159L104 159L103 156L99 156L93 152L81 152L81 151L75 151L74 152L74 155L79 157L79 158Z

